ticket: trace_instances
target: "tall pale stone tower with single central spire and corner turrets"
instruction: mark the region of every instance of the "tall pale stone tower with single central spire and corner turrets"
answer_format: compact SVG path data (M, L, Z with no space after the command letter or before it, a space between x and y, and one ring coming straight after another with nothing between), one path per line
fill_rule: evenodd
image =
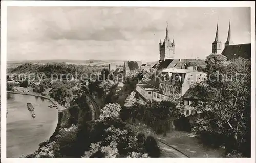
M160 40L160 43L159 43L159 52L160 52L160 60L174 59L175 43L174 43L174 40L172 42L169 39L168 22L166 25L164 41L162 43L162 41Z

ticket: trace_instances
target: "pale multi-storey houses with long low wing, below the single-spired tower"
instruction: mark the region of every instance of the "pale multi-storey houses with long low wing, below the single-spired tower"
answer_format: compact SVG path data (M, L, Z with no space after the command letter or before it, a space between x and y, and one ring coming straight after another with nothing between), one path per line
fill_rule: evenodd
M140 100L150 100L152 102L167 100L171 94L178 95L185 105L184 115L186 117L197 114L197 112L193 111L193 107L190 106L193 101L198 100L196 97L191 96L191 91L193 91L191 86L206 80L206 78L207 74L205 72L197 71L196 69L169 68L161 72L157 81L153 81L159 83L158 86L156 84L152 85L150 82L137 84L136 91Z

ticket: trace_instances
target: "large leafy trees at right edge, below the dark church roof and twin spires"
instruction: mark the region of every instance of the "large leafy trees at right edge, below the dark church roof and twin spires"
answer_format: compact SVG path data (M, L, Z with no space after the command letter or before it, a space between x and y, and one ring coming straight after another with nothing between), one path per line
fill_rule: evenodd
M216 54L206 62L206 69L214 78L194 87L199 98L206 101L206 108L197 105L196 109L204 114L196 121L193 131L201 138L211 137L212 144L223 143L227 153L237 150L248 156L251 63L242 58L226 61L223 55Z

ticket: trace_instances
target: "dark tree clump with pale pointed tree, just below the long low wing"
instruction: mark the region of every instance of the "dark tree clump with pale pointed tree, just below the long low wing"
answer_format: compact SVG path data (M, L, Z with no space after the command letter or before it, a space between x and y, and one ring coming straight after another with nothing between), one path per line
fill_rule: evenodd
M180 118L184 107L180 106L178 100L163 100L160 103L144 103L135 98L135 92L127 96L121 111L123 120L138 119L152 127L157 133L166 133L170 129L170 121Z

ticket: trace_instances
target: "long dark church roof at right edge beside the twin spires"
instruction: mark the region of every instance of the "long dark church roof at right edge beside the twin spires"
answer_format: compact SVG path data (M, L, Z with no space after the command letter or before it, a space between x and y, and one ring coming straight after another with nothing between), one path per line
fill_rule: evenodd
M237 44L237 45L229 45L224 48L222 53L227 57L228 60L242 57L246 59L251 58L251 44Z

